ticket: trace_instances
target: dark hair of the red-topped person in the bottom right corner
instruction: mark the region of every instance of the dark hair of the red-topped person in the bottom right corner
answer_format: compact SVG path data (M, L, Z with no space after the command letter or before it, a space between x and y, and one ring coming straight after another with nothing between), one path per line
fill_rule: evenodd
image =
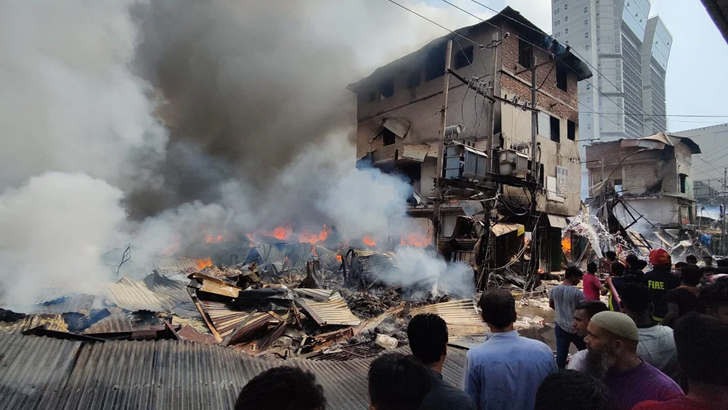
M674 335L678 362L690 383L728 387L728 325L690 313L677 321Z

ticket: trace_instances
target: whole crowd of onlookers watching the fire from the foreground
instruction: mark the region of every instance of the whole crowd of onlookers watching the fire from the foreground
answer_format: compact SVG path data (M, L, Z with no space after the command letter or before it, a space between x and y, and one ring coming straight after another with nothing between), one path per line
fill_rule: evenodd
M371 410L726 410L728 409L728 278L690 258L675 270L652 251L647 267L634 255L609 255L597 276L566 270L549 292L556 355L514 329L516 303L504 289L478 302L490 329L470 349L462 389L442 377L448 331L434 314L411 319L412 355L379 356L369 368ZM583 280L583 289L578 285ZM609 304L600 295L609 295ZM569 358L574 345L577 353ZM261 373L241 391L236 410L323 410L315 376L295 367Z

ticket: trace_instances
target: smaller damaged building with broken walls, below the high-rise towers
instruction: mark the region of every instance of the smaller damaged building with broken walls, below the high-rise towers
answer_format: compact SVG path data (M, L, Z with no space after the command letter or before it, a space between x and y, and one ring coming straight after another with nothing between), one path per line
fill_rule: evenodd
M590 196L614 187L642 226L680 227L696 221L690 138L659 133L586 147ZM641 217L641 218L640 218ZM625 218L626 219L626 218Z

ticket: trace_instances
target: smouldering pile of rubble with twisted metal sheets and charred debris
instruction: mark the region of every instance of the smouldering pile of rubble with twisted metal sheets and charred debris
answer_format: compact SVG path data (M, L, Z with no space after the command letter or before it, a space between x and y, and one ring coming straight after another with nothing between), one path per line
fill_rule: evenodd
M56 338L177 339L251 356L349 360L407 343L411 316L432 312L454 339L482 336L473 300L405 300L379 280L394 267L385 252L262 246L223 266L160 260L142 280L128 277L103 295L69 295L32 314L0 310L0 330ZM408 297L410 295L408 294Z

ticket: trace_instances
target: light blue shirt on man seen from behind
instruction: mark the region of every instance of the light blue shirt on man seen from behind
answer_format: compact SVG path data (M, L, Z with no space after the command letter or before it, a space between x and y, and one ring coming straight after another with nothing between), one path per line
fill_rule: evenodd
M515 330L495 333L468 352L463 390L478 410L533 410L538 386L557 370L546 344Z

